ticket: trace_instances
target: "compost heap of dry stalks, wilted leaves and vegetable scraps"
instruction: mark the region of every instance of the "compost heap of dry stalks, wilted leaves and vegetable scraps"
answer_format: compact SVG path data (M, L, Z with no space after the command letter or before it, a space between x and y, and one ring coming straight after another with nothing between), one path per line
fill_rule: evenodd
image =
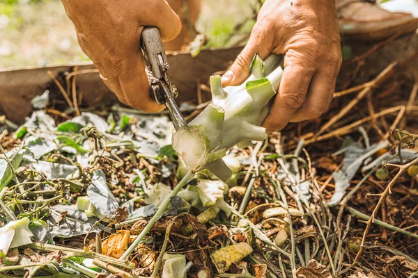
M401 71L379 78L231 149L228 181L203 170L175 191L187 170L167 116L45 92L22 126L1 118L0 275L414 277L416 89Z

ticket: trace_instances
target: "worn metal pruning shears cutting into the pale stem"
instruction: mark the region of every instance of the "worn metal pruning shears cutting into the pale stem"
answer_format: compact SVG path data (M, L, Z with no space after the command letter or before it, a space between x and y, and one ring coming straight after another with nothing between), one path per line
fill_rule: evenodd
M150 81L150 95L157 104L165 104L169 109L176 131L187 128L187 122L180 113L175 98L178 91L169 79L170 67L162 46L160 31L155 26L145 27L141 34L141 48L144 52L146 72Z

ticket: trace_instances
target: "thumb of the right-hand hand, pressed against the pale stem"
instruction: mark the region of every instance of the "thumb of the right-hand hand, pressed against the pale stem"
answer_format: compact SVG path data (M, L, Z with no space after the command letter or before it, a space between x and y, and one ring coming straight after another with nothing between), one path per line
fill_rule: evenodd
M249 67L255 54L258 54L261 59L264 59L270 54L271 43L268 44L268 35L265 32L254 26L251 31L251 36L244 49L237 56L229 70L222 76L222 85L237 86L241 85L249 76Z

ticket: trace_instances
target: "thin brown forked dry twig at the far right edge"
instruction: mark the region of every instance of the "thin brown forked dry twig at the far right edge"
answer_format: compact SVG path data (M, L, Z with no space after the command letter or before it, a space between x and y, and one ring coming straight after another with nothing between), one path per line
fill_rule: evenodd
M367 220L367 222L366 222L366 229L364 229L362 243L360 244L360 250L359 250L359 252L357 252L357 255L355 256L355 259L354 259L353 263L356 263L359 260L360 256L362 255L362 252L364 250L364 242L366 241L366 236L369 233L371 224L374 222L376 214L378 213L378 210L379 210L380 206L382 205L382 202L385 200L385 197L389 194L392 194L392 186L394 186L394 183L399 179L399 177L401 177L402 174L405 171L407 171L410 166L416 165L416 164L418 164L418 158L415 158L413 161L411 161L410 163L405 164L405 165L397 165L397 164L386 163L387 167L397 167L399 170L396 173L395 177L392 179L392 181L390 181L387 184L385 190L382 193L378 194L378 196L380 196L378 204L376 204L376 207L373 209L373 212L371 213L369 220ZM371 194L368 194L368 195L366 195L366 197L368 197L370 195Z

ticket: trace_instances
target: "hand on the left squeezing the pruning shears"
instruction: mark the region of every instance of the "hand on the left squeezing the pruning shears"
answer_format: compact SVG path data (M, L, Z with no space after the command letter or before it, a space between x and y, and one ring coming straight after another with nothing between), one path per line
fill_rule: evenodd
M104 83L123 103L142 111L161 111L150 98L141 52L144 26L157 26L163 40L180 33L181 22L164 0L62 0L84 53Z

